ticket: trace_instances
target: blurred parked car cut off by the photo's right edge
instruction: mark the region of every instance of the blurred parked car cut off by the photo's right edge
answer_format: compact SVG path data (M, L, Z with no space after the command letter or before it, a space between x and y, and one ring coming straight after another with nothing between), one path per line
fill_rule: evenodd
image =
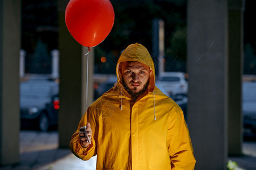
M242 84L244 136L256 137L256 82Z

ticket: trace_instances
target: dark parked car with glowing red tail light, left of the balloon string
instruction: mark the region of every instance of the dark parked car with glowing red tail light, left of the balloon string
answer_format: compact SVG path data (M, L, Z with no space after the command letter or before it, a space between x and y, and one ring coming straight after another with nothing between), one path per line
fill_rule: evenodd
M29 80L20 83L21 128L47 131L57 125L58 83L53 80Z

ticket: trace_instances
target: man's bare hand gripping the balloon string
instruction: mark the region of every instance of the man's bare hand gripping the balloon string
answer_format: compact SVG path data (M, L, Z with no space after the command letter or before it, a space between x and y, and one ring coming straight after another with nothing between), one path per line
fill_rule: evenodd
M86 126L81 127L79 130L80 130L79 137L81 140L81 145L83 147L89 146L91 143L91 135L93 134L93 131L91 130L91 124L87 122Z

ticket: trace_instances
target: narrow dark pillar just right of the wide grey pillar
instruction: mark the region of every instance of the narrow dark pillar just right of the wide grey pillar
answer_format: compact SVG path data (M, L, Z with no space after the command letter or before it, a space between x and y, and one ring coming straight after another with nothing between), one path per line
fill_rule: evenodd
M228 1L228 154L242 154L243 0Z

